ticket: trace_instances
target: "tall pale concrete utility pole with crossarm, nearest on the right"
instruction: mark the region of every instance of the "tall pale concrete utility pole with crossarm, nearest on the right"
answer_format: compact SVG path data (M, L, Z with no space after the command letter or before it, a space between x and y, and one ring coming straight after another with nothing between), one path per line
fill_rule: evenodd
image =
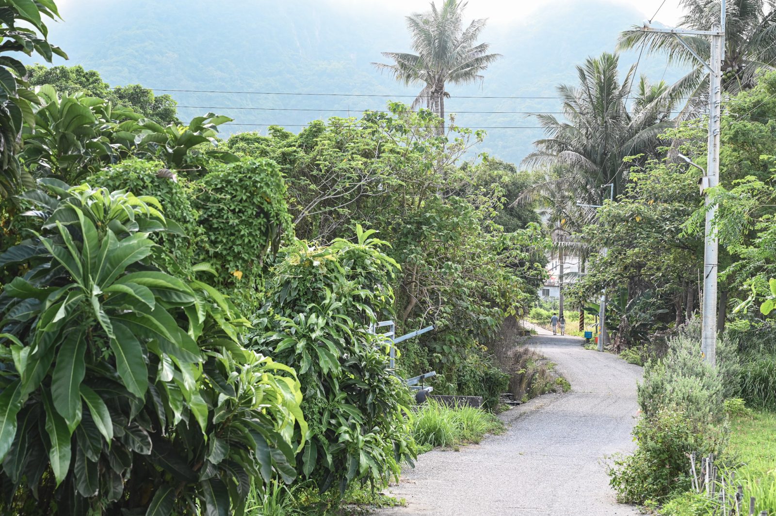
M676 36L679 43L708 69L708 162L706 177L702 179L702 187L715 187L719 184L719 120L722 109L722 60L725 59L725 3L720 6L719 24L715 23L711 30L684 29L653 29L645 26L641 29L646 33L668 33ZM684 40L682 35L710 36L711 55L709 62L698 56ZM701 326L701 349L706 362L715 364L717 347L717 270L718 251L717 231L712 224L717 208L706 196L706 237L703 259L703 303Z

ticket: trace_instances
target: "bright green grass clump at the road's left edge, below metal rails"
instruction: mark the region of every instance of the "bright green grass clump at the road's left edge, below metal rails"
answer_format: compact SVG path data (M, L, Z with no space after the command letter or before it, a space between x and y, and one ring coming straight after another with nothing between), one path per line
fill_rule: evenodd
M448 407L434 400L417 408L412 425L420 452L437 446L478 443L486 434L504 432L504 423L490 412L463 404Z

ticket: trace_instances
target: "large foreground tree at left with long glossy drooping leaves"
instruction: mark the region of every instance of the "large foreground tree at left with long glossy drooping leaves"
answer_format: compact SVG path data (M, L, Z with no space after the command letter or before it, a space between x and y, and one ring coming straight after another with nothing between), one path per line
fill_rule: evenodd
M36 230L0 255L19 270L0 294L3 512L241 514L252 484L292 481L296 373L244 349L205 281L155 266L161 204L39 183Z

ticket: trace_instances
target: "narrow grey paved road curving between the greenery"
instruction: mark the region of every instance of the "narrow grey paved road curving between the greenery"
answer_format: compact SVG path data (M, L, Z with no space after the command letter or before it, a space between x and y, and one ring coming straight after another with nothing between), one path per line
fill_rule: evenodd
M544 332L543 333L548 333ZM390 489L407 507L381 516L634 516L617 504L603 459L633 448L636 381L642 370L582 339L537 335L528 346L558 364L566 394L547 394L502 415L504 435L459 452L432 450Z

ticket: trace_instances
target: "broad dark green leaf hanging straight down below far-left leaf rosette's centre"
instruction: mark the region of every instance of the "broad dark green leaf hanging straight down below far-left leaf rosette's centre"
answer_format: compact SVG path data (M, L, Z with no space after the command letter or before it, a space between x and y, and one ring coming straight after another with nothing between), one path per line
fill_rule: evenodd
M86 372L86 339L83 329L65 333L54 373L51 375L51 397L57 412L72 426L81 415L81 381Z

